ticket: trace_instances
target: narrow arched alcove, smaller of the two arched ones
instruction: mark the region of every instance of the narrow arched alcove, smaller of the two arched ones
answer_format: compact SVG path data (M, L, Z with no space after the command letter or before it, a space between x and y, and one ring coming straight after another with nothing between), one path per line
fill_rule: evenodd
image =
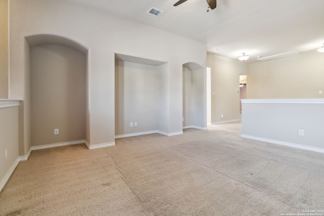
M183 64L183 128L207 129L206 73L197 63Z

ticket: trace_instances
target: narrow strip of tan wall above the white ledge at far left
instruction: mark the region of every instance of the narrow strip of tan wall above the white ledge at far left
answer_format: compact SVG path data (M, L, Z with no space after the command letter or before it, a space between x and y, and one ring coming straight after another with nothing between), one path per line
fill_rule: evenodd
M8 0L0 0L0 98L8 98Z

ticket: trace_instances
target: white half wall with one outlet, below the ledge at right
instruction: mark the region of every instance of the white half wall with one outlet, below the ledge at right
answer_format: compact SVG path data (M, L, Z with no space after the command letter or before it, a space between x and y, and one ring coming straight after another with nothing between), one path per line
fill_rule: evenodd
M282 103L268 100L242 103L243 137L324 152L323 101L296 99L297 102L286 100ZM299 129L304 130L304 136L299 136Z

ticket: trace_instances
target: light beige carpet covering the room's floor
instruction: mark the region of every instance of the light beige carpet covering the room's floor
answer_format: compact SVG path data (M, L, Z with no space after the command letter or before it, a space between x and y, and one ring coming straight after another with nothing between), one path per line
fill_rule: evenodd
M88 150L33 151L0 215L280 215L324 207L324 154L240 138L240 123Z

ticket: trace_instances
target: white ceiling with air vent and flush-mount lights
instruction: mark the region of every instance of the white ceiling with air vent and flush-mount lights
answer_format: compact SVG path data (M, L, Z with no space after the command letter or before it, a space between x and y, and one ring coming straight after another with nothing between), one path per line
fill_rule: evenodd
M324 0L69 0L207 44L208 52L237 60L316 50L324 43ZM159 17L150 8L164 11ZM217 52L214 50L218 49Z

